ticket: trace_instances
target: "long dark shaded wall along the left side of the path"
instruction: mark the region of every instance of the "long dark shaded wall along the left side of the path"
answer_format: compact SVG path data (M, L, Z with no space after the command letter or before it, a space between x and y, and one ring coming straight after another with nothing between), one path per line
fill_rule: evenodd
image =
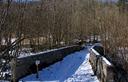
M41 70L44 67L47 67L59 60L62 60L65 56L69 55L70 53L79 51L81 49L82 47L75 45L75 46L69 46L69 47L63 47L63 48L51 50L48 52L44 52L28 57L19 58L17 59L17 63L16 63L15 79L16 81L18 81L22 77L25 77L32 73L36 73L36 65L35 65L36 60L40 60L39 70Z

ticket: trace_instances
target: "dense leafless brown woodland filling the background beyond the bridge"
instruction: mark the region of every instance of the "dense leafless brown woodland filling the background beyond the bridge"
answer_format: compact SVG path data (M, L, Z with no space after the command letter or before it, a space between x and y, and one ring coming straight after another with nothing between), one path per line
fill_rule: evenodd
M36 50L100 40L105 55L128 70L127 5L125 0L1 1L0 49L14 38L25 38L22 47Z

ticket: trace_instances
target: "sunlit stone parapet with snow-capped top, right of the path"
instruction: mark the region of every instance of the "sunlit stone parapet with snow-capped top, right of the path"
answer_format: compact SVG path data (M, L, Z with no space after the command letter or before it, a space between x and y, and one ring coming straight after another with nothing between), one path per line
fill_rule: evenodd
M94 47L94 46L93 46ZM90 49L90 63L100 82L114 82L114 66L93 47Z

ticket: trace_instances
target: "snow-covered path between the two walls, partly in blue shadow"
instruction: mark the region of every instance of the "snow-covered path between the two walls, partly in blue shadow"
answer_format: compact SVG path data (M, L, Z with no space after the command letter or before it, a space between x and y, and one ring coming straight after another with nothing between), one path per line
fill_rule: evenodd
M39 72L39 78L35 74L22 79L23 82L99 82L93 75L88 61L87 49L75 52L62 61L51 65Z

